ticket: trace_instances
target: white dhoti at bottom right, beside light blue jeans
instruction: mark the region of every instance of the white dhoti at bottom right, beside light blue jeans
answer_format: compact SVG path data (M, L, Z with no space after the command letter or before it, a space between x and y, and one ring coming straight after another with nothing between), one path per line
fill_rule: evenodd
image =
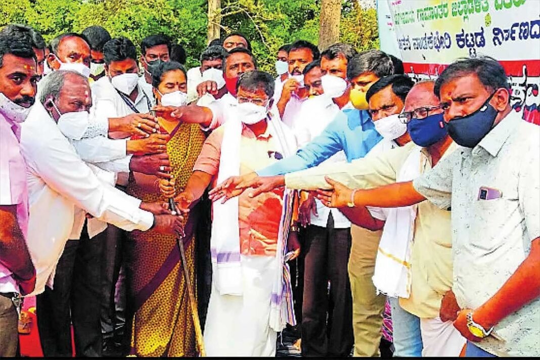
M457 357L467 342L453 322L442 322L440 317L420 319L422 356Z

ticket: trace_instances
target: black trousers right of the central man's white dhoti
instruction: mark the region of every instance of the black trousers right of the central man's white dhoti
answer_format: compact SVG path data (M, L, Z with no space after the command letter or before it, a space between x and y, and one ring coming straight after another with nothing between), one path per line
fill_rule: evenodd
M354 344L350 228L335 229L330 214L327 227L309 225L304 240L302 356L346 357Z

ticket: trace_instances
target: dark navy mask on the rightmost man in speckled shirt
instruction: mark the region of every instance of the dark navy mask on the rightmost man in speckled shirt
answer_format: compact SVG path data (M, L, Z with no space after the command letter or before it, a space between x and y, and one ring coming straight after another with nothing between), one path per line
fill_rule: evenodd
M489 104L494 94L475 112L445 123L448 134L456 144L473 148L491 131L498 114L496 108Z

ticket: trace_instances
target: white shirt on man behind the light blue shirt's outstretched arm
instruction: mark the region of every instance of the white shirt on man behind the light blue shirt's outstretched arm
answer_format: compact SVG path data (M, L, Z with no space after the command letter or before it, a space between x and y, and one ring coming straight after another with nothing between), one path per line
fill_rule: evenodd
M347 106L350 106L348 104ZM347 106L345 108L347 108ZM296 115L293 131L298 140L298 146L307 145L313 138L317 137L325 130L326 126L334 120L340 112L338 105L331 98L325 95L319 95L307 99L301 105L300 111ZM321 162L321 164L335 164L336 162L347 161L343 150L332 155L332 157ZM330 209L318 199L315 199L317 206L317 215L311 215L311 224L326 227L328 216L332 213L334 218L334 228L344 229L350 227L350 221L338 209Z

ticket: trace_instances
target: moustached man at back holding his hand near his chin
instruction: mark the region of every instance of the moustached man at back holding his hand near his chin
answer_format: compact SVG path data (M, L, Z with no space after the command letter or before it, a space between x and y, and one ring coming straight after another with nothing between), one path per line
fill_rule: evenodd
M300 106L308 94L304 86L303 70L307 64L319 59L319 49L306 40L295 41L287 54L288 77L284 81L276 81L274 94L274 112L279 113L281 120L293 128Z

